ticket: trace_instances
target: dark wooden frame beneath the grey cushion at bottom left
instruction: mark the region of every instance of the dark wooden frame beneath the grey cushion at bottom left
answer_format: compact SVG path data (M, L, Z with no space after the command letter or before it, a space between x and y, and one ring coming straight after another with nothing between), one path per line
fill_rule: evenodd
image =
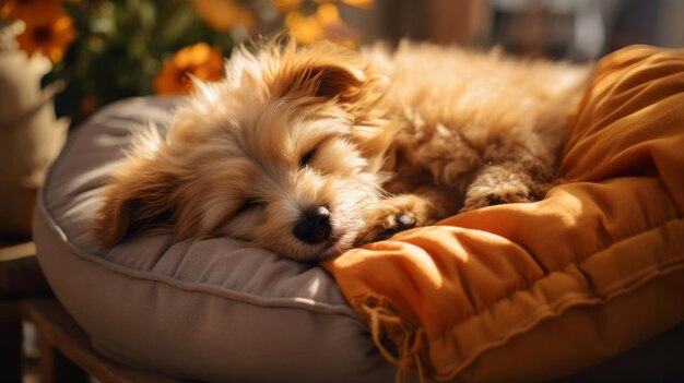
M98 355L51 291L35 256L33 242L0 248L0 382L23 381L23 322L38 334L42 383L173 383Z

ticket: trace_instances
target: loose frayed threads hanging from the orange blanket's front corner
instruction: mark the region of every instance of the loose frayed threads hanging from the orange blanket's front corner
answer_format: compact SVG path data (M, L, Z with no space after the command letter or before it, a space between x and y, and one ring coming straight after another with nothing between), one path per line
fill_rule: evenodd
M396 312L386 307L363 302L361 308L368 314L373 342L375 342L380 354L385 359L399 367L394 382L405 383L409 372L415 370L418 381L425 383L420 355L425 336L423 328L413 328ZM392 355L382 344L382 334L390 335L397 345L397 356Z

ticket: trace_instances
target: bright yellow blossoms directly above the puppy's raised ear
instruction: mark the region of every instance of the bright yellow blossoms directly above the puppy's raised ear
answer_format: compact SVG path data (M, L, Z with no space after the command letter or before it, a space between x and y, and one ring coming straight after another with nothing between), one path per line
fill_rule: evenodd
M285 15L285 27L304 45L325 38L354 46L354 41L358 39L358 34L342 21L338 8L332 3L318 5L316 13L309 16L288 12Z

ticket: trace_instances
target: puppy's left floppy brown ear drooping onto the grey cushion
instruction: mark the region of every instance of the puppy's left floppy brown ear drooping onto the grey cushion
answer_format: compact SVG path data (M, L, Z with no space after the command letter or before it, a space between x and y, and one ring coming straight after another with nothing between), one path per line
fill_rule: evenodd
M176 177L145 164L131 164L119 171L104 191L91 231L106 246L118 243L129 232L168 219Z

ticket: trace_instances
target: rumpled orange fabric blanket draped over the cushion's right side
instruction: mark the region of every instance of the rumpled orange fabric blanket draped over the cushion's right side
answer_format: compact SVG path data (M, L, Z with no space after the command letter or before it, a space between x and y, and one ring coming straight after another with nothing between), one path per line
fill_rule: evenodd
M684 50L599 62L561 177L325 264L401 374L554 379L684 320Z

